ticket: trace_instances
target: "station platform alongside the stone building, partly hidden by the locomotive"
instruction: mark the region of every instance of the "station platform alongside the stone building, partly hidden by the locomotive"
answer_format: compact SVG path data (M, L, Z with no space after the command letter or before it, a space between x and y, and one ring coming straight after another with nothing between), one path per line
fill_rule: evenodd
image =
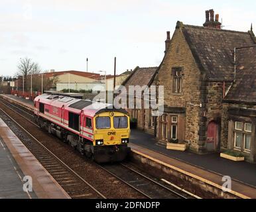
M33 110L32 101L13 95L1 95L29 110ZM173 170L191 176L207 185L222 188L222 177L232 179L232 193L241 198L256 199L256 165L248 162L232 162L220 158L220 154L198 155L192 152L167 150L153 135L143 131L131 131L130 144L133 153L149 158Z

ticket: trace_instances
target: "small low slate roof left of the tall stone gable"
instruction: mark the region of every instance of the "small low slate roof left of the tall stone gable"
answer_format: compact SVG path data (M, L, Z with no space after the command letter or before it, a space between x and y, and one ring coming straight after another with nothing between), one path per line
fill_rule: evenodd
M137 66L130 76L123 81L122 85L125 85L127 91L129 85L149 85L154 78L157 69L158 67L139 68L139 66Z

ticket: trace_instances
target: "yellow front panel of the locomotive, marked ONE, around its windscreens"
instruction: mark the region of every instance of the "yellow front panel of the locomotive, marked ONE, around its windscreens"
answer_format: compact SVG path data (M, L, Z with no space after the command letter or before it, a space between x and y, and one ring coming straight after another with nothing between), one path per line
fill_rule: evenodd
M115 129L113 126L113 117L127 117L127 128L125 129ZM97 117L109 117L110 128L109 129L97 129L96 128L96 118ZM120 112L104 112L96 115L94 117L94 145L96 145L96 140L103 140L103 145L118 145L122 144L122 138L130 137L130 121L129 116Z

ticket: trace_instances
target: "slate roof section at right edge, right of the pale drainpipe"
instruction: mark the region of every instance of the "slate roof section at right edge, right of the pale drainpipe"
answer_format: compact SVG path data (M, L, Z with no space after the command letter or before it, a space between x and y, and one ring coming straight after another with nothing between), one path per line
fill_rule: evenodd
M225 100L255 103L256 105L256 45L237 49L235 82Z

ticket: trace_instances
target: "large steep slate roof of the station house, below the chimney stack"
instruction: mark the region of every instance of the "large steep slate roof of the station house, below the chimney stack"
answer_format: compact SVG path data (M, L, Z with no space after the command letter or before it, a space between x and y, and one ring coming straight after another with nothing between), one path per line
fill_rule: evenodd
M237 32L178 22L176 28L180 27L198 66L206 72L208 79L232 80L234 48L256 44L251 31Z

